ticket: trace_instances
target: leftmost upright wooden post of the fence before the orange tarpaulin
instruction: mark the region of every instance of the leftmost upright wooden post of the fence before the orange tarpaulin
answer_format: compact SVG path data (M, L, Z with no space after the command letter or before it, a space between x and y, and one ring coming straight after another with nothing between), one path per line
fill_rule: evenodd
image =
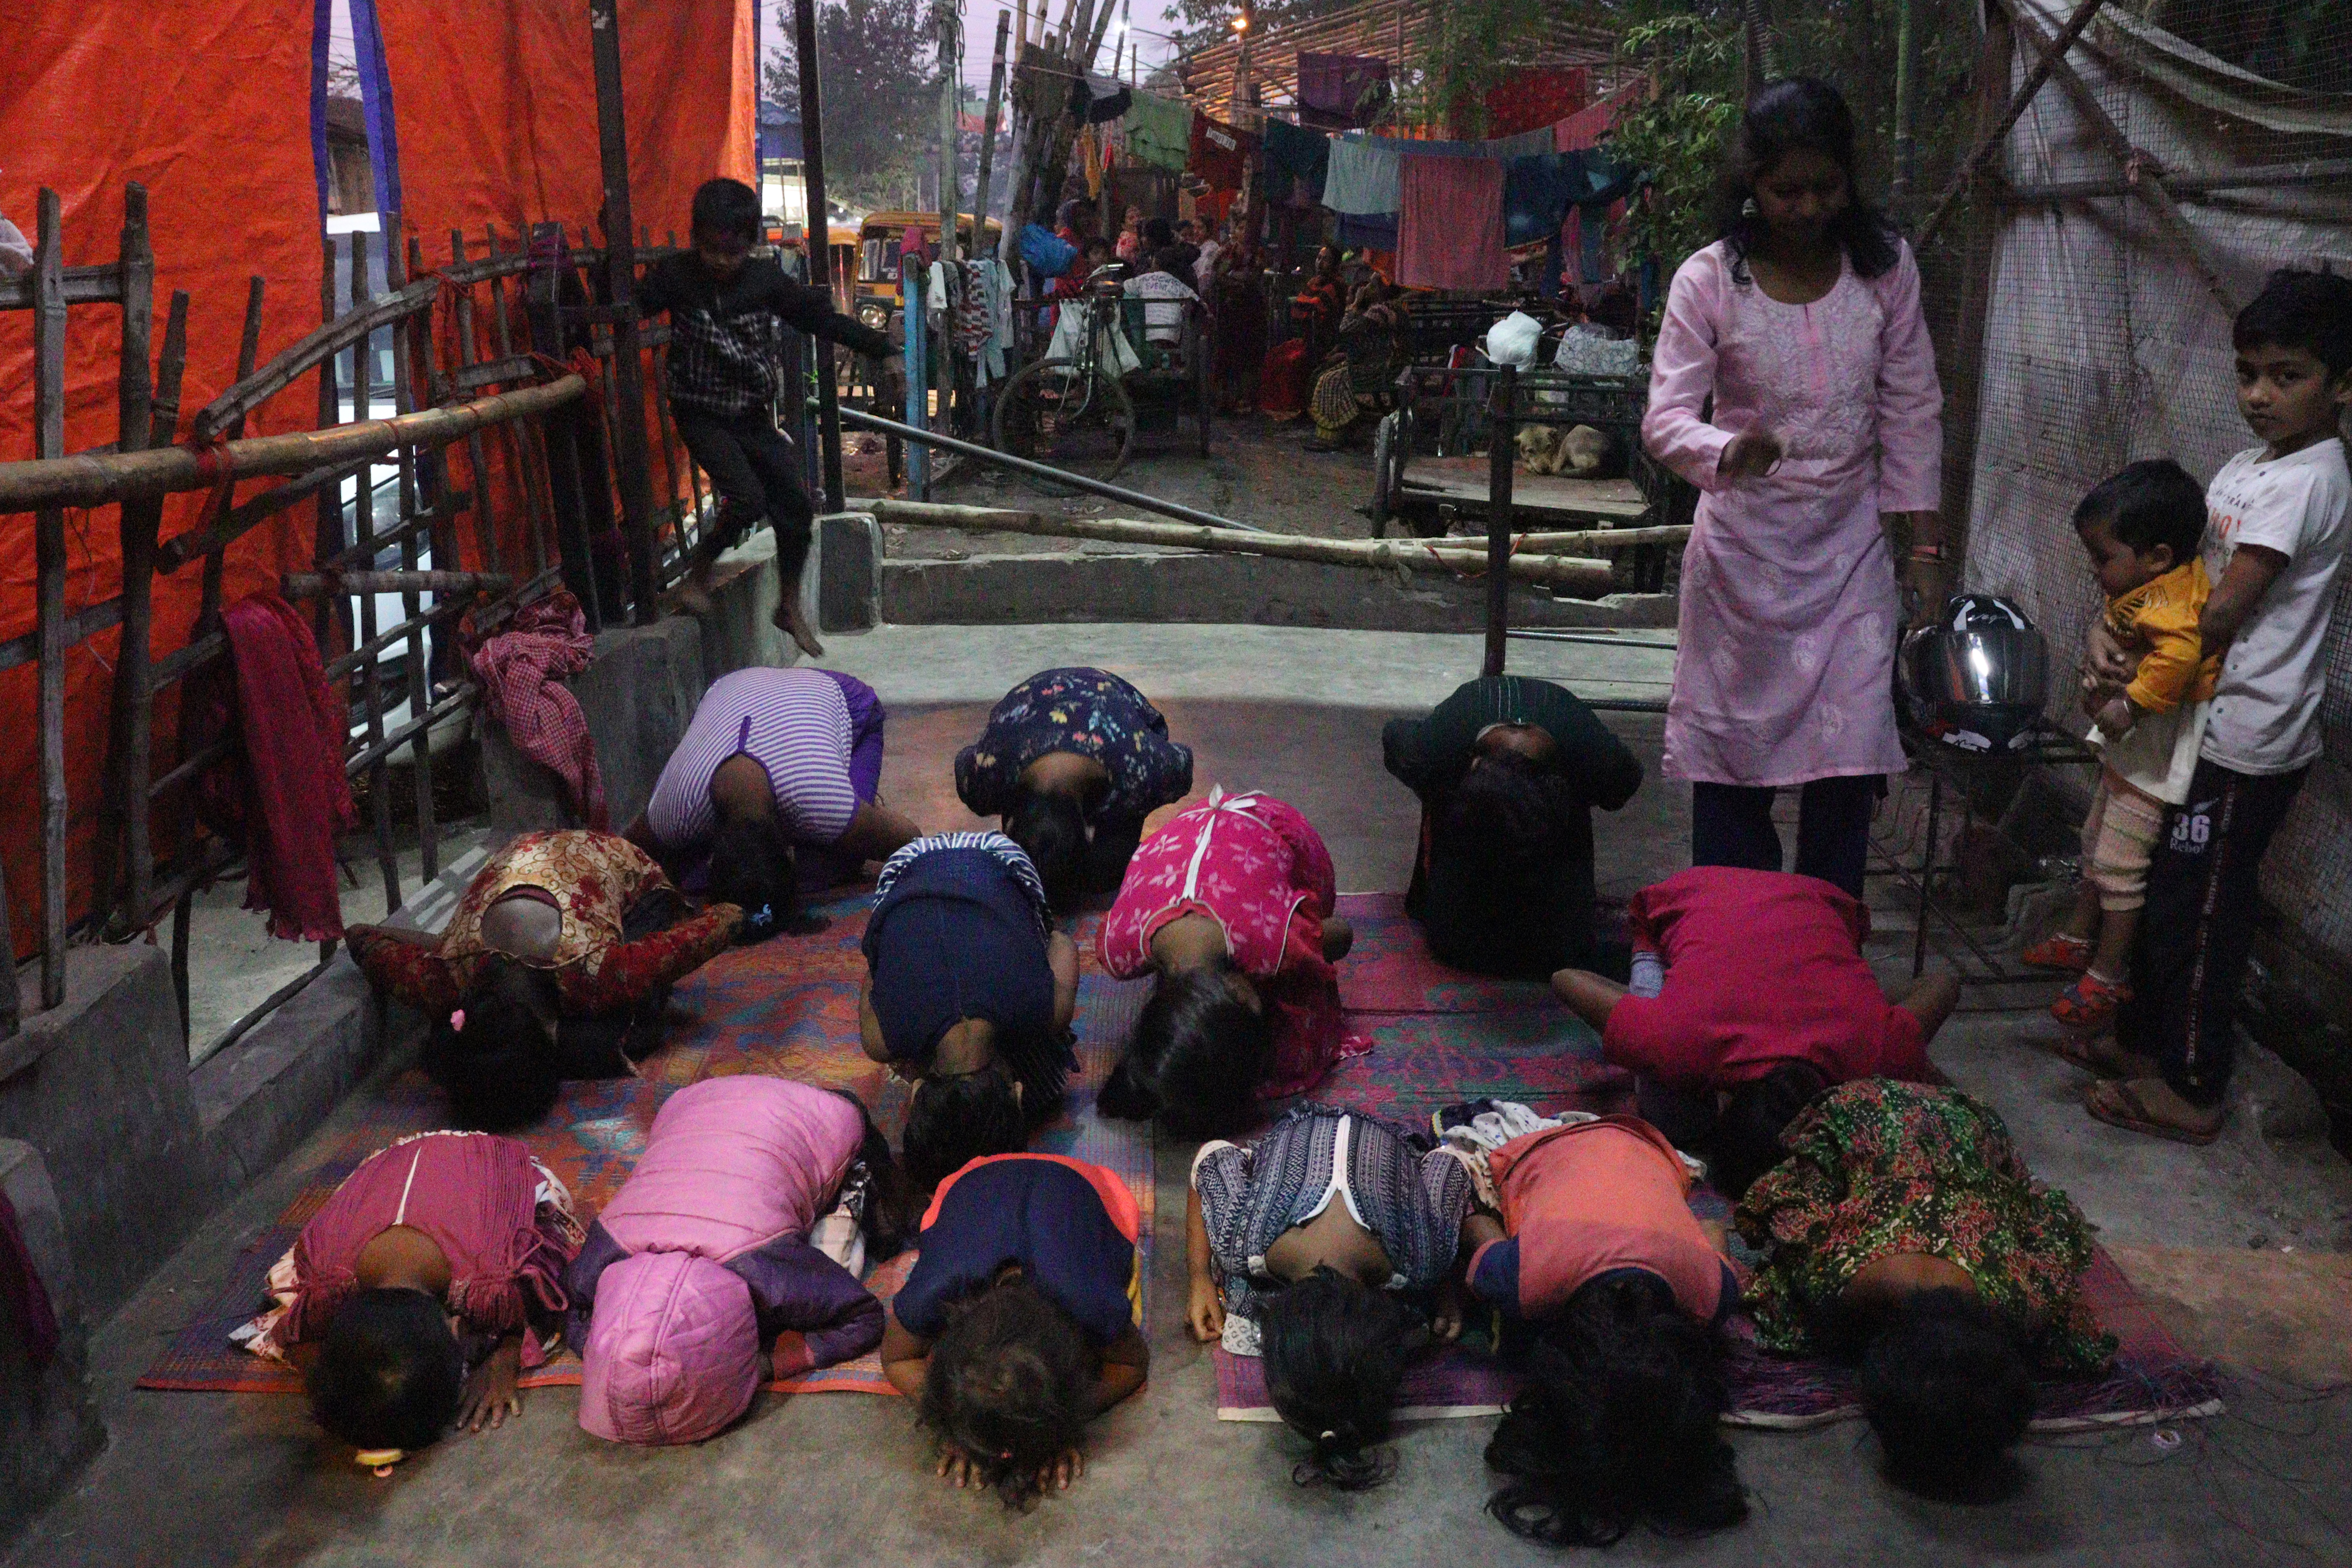
M66 261L56 190L33 252L33 454L66 456ZM33 515L40 625L40 1006L66 999L66 512Z

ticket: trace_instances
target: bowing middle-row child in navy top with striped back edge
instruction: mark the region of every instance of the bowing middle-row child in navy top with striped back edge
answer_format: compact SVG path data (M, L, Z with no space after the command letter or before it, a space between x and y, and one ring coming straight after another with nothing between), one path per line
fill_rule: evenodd
M1002 832L915 839L875 882L863 947L866 1056L915 1079L908 1178L929 1190L1023 1147L1077 1067L1077 945L1054 931L1030 858Z

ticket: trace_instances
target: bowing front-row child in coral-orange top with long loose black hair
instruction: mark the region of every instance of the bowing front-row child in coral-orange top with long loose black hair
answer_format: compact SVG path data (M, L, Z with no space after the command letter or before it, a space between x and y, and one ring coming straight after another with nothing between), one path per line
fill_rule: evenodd
M1442 1114L1461 1112L1475 1107ZM1486 1173L1501 1215L1463 1220L1470 1291L1524 1324L1505 1345L1524 1347L1531 1378L1486 1446L1512 1476L1489 1512L1512 1535L1585 1547L1644 1519L1738 1523L1715 1331L1740 1288L1665 1133L1632 1117L1555 1124L1491 1150Z

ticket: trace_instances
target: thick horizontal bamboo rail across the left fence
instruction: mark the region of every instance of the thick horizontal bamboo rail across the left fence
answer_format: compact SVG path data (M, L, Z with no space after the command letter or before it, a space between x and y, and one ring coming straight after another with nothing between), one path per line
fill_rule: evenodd
M421 409L397 418L367 418L336 430L294 430L256 435L214 449L219 468L188 447L155 451L92 451L71 458L35 458L0 463L0 515L38 508L108 505L134 496L165 496L188 489L212 489L223 475L303 475L313 468L381 456L402 444L442 447L468 430L485 430L513 418L543 414L586 395L588 383L562 376L546 386L477 397L447 409ZM59 435L64 444L64 435Z

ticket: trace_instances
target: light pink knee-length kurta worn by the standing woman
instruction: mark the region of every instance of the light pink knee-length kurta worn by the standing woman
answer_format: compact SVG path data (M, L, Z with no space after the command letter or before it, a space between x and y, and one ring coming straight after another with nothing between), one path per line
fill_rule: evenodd
M1708 395L1715 414L1700 418ZM1903 625L1879 512L1940 505L1943 390L1910 247L1811 306L1731 277L1722 242L1675 273L1642 444L1696 484L1665 773L1792 785L1900 773ZM1769 475L1724 480L1733 435L1771 430Z

